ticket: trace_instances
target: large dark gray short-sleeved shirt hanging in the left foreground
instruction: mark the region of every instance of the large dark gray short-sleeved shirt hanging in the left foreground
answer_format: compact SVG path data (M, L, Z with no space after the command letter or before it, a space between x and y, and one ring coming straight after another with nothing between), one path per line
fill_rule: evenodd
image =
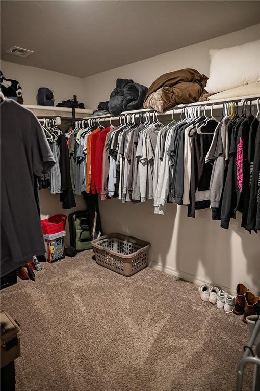
M45 253L36 178L55 164L35 115L13 100L1 103L1 276Z

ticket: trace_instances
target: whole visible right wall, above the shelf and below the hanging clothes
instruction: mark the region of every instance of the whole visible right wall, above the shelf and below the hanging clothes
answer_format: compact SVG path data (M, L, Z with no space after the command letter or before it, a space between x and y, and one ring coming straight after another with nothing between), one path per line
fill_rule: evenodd
M181 68L195 68L209 75L209 49L242 44L260 36L260 24L147 60L102 72L84 79L85 101L97 107L107 100L117 78L132 78L150 86L158 76ZM147 43L147 44L151 44ZM211 211L196 211L187 217L187 208L169 204L166 215L154 215L152 202L122 204L119 200L101 201L103 230L137 236L151 243L153 266L187 280L214 282L235 290L238 282L252 292L260 290L259 234L249 235L240 227L241 216L229 230L211 220Z

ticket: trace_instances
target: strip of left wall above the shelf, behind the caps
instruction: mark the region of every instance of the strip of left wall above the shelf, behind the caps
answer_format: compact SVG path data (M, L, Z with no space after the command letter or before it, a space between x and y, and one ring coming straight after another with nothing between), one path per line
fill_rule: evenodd
M55 105L63 100L72 99L73 95L77 95L77 100L83 101L84 90L80 77L8 61L1 61L1 70L6 78L19 81L24 104L37 104L36 96L39 87L48 87L54 91Z

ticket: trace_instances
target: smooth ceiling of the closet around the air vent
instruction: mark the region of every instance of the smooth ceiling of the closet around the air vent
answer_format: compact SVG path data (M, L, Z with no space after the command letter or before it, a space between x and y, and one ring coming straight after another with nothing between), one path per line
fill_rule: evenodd
M1 59L86 77L259 22L259 1L2 0Z

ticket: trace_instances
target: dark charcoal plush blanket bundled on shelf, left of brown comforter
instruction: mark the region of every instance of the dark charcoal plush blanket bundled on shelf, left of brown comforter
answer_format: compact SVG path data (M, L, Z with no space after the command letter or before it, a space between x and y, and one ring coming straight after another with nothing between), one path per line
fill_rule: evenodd
M97 108L109 111L112 116L118 116L122 111L142 109L147 91L147 87L131 79L117 79L109 101L100 102Z

